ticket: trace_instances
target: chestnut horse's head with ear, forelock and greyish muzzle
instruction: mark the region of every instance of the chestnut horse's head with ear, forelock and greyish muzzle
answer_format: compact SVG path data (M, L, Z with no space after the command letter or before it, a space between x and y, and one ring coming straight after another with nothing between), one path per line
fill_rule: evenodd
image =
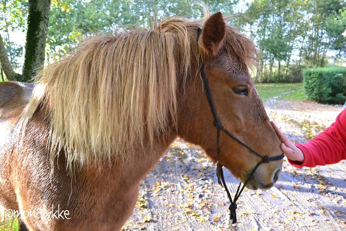
M197 31L196 31L197 33ZM197 36L196 36L197 41ZM228 26L221 13L210 16L199 38L205 75L222 126L240 141L263 156L279 155L280 140L273 130L263 103L257 94L248 65L257 52L253 42ZM196 63L192 82L203 86ZM217 154L217 128L208 99L201 87L184 85L178 111L178 134L200 145L210 158L244 181L261 158L224 132L220 133ZM282 169L282 160L261 165L246 185L249 189L267 189L274 185Z

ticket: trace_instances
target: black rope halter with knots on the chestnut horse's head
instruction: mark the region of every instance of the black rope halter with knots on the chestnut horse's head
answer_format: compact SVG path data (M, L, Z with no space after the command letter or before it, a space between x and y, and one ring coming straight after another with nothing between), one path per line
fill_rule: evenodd
M198 28L198 33L197 33L197 45L198 45L198 50L199 50L199 37L201 35L202 29ZM255 173L256 169L262 164L262 163L268 163L269 161L273 161L273 160L281 160L284 157L284 154L282 153L279 156L275 156L275 157L267 157L267 156L262 156L260 153L256 152L255 150L253 150L252 148L250 148L249 146L247 146L245 143L243 143L242 141L238 140L237 137L235 137L234 135L232 135L229 131L226 130L226 128L224 128L221 124L221 122L219 121L217 114L216 114L216 110L215 110L215 106L213 103L213 99L211 97L211 92L210 92L210 88L208 85L208 80L206 78L206 73L204 73L204 62L202 60L202 56L199 54L199 64L200 64L200 72L201 72L201 78L203 81L203 87L204 87L204 91L206 92L206 96L209 102L209 106L211 109L211 113L214 116L214 124L217 128L217 170L216 170L216 175L218 178L218 182L219 184L224 187L226 189L229 201L230 201L230 205L228 207L228 209L230 210L230 221L229 221L229 226L230 228L235 229L236 228L236 223L237 223L237 214L236 214L236 209L237 209L237 200L240 196L240 194L243 192L245 185L247 184L247 182L249 181L250 177L253 176L253 174ZM224 131L227 135L229 135L230 137L232 137L235 141L237 141L238 143L240 143L241 145L243 145L245 148L247 148L248 150L250 150L251 152L255 153L257 156L261 157L262 160L260 162L257 163L256 167L251 171L250 175L247 177L246 181L243 184L243 187L240 188L240 186L242 185L242 182L239 183L237 192L234 196L234 199L232 200L231 194L229 193L229 190L227 188L226 182L225 182L225 178L224 178L224 171L222 170L222 165L219 162L219 157L220 157L220 130ZM222 183L221 183L221 180Z

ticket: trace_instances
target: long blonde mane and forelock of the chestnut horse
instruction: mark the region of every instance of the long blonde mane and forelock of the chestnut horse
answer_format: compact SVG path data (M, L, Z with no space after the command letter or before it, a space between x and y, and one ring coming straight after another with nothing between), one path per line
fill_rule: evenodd
M175 129L177 76L191 75L202 26L203 20L171 17L150 30L121 28L89 38L37 75L19 123L23 133L43 103L50 118L51 163L61 150L69 166L132 162L134 148ZM230 26L224 44L246 64L256 54L251 40Z

